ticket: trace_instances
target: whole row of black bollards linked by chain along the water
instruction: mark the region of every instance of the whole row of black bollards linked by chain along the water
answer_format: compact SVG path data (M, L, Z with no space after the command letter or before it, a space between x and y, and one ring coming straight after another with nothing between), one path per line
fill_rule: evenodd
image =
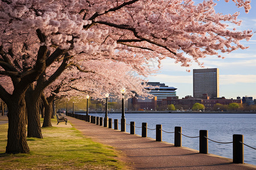
M108 118L108 120L102 117L96 116L86 116L82 114L71 115L72 117L78 118L80 120L91 122L92 124L104 126L112 129L112 118ZM122 121L121 121L122 123ZM121 125L121 131L125 131L126 124ZM147 123L142 123L142 137L147 137ZM114 120L114 129L118 130L118 119ZM162 141L162 125L156 125L156 141ZM135 122L130 122L130 134L135 134ZM175 126L174 129L174 146L181 147L182 146L182 128L180 126ZM192 137L197 138L197 137ZM211 140L212 141L212 140ZM213 141L216 142L216 141ZM217 142L221 143L221 142ZM233 135L233 163L243 163L243 135L234 134ZM199 131L199 153L200 154L208 154L208 130L200 130Z

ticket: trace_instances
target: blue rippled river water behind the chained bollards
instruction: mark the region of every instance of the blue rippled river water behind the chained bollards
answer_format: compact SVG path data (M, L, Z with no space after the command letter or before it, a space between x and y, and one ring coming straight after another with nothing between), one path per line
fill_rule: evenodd
M90 114L104 117L104 113ZM109 118L121 118L121 113L109 113ZM126 124L131 121L141 127L147 122L149 129L155 129L161 124L164 131L173 132L175 126L182 127L182 134L189 137L199 136L199 130L208 130L208 138L218 142L232 142L233 134L242 134L243 143L256 148L256 114L222 114L222 113L126 113ZM120 129L120 125L119 128ZM130 126L126 126L130 132ZM135 133L141 135L141 128L135 128ZM155 139L155 130L147 130L147 135ZM163 141L174 143L174 134L163 132ZM209 141L209 153L233 159L233 145ZM182 146L199 150L199 138L182 136ZM244 146L245 163L256 165L256 150Z

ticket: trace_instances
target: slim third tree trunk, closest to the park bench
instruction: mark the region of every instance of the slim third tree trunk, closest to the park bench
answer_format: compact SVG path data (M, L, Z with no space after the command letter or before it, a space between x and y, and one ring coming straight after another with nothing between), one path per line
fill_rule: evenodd
M44 103L44 122L42 127L51 127L51 117L52 117L52 105L48 103L46 97L42 95L43 103ZM52 101L53 102L53 101Z

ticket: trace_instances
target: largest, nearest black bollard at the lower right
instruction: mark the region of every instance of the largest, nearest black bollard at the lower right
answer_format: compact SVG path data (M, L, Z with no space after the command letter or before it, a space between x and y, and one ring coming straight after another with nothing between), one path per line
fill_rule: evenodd
M233 134L233 163L243 164L243 135Z

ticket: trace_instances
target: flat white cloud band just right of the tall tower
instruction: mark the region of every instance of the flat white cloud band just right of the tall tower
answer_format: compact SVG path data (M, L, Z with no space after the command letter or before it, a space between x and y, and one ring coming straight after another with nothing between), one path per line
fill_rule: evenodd
M256 83L256 75L220 75L220 84Z

